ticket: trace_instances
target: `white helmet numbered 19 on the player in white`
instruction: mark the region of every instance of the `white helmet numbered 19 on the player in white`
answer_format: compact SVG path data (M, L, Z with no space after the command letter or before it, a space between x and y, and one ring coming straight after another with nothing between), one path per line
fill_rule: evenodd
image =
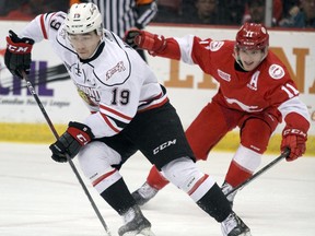
M97 5L72 4L67 15L66 28L69 34L84 34L96 30L97 35L101 35L103 32L102 15Z

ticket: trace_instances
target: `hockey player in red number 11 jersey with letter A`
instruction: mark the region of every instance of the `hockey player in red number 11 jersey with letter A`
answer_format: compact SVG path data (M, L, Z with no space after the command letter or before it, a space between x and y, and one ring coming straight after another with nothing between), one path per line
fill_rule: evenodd
M284 64L268 50L269 34L264 25L245 23L236 40L200 39L191 35L164 38L144 31L127 32L125 40L152 56L198 64L219 82L218 93L188 127L186 137L197 160L207 160L229 131L240 128L241 143L222 185L224 193L257 169L271 133L281 121L285 127L280 149L291 150L287 161L304 154L308 111ZM167 182L153 166L144 185L132 196L144 204ZM235 193L228 196L231 205Z

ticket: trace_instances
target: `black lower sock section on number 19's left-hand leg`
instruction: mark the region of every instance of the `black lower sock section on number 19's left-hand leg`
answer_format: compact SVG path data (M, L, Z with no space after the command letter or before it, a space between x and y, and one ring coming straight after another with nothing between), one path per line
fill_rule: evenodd
M101 196L119 215L136 204L122 178L103 191Z

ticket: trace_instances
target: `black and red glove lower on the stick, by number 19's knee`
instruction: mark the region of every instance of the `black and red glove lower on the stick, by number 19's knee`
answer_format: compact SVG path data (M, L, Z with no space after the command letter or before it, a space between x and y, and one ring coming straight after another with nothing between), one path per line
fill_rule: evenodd
M67 131L49 149L52 152L51 158L56 162L67 162L67 155L73 158L81 146L86 145L94 134L90 127L84 123L69 122Z

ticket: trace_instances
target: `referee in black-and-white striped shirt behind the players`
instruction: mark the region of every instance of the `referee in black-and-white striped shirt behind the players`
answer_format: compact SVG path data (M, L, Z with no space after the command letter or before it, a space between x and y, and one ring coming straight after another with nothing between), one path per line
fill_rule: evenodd
M124 38L125 32L130 28L142 30L148 25L158 12L156 0L81 0L93 2L103 15L103 24L106 30ZM143 50L138 50L145 59Z

